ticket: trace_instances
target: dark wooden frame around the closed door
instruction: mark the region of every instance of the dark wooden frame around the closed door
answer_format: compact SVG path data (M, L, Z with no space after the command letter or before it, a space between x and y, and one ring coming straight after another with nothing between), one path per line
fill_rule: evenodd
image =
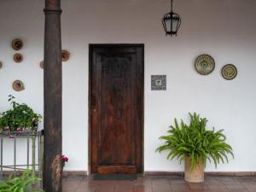
M138 47L142 49L142 65L143 65L143 82L142 82L142 91L143 91L143 102L142 102L142 174L144 174L144 81L145 81L145 76L144 76L144 44L89 44L89 90L88 90L88 125L89 125L89 129L88 129L88 174L91 174L91 116L92 116L92 108L91 108L91 90L92 90L92 51L94 48L96 47L114 47L114 48L118 48L118 47L122 47L122 48L129 48L129 47Z

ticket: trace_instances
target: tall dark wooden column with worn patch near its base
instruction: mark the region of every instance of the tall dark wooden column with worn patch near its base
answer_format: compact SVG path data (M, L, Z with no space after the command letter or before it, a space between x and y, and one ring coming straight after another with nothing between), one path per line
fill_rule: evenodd
M61 192L62 72L61 0L45 0L44 28L44 173L46 192Z

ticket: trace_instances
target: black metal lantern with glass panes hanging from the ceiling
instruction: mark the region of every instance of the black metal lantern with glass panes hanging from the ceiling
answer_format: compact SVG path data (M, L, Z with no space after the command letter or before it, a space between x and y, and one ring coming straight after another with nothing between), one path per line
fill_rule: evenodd
M171 35L171 36L177 35L177 31L181 24L180 16L172 11L172 1L173 0L171 0L171 12L164 15L164 18L162 19L162 23L163 23L164 29L166 31L166 36L167 35Z

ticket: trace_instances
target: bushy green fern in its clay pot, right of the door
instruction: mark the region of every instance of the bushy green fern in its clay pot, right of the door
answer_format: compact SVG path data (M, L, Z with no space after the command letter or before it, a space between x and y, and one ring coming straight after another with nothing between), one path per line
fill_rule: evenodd
M229 162L228 154L234 158L232 148L225 143L223 130L207 130L207 119L201 118L197 113L189 113L190 125L181 120L180 125L174 119L167 136L160 137L165 141L156 149L158 152L170 151L168 160L177 157L185 162L185 180L192 183L204 181L204 168L207 160L213 160L215 167L220 162Z

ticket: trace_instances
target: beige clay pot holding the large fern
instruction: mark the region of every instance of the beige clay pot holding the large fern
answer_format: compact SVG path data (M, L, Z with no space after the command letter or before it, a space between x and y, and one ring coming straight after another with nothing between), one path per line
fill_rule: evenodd
M198 162L193 171L190 170L190 157L185 158L185 181L190 183L204 182L205 167L202 160Z

